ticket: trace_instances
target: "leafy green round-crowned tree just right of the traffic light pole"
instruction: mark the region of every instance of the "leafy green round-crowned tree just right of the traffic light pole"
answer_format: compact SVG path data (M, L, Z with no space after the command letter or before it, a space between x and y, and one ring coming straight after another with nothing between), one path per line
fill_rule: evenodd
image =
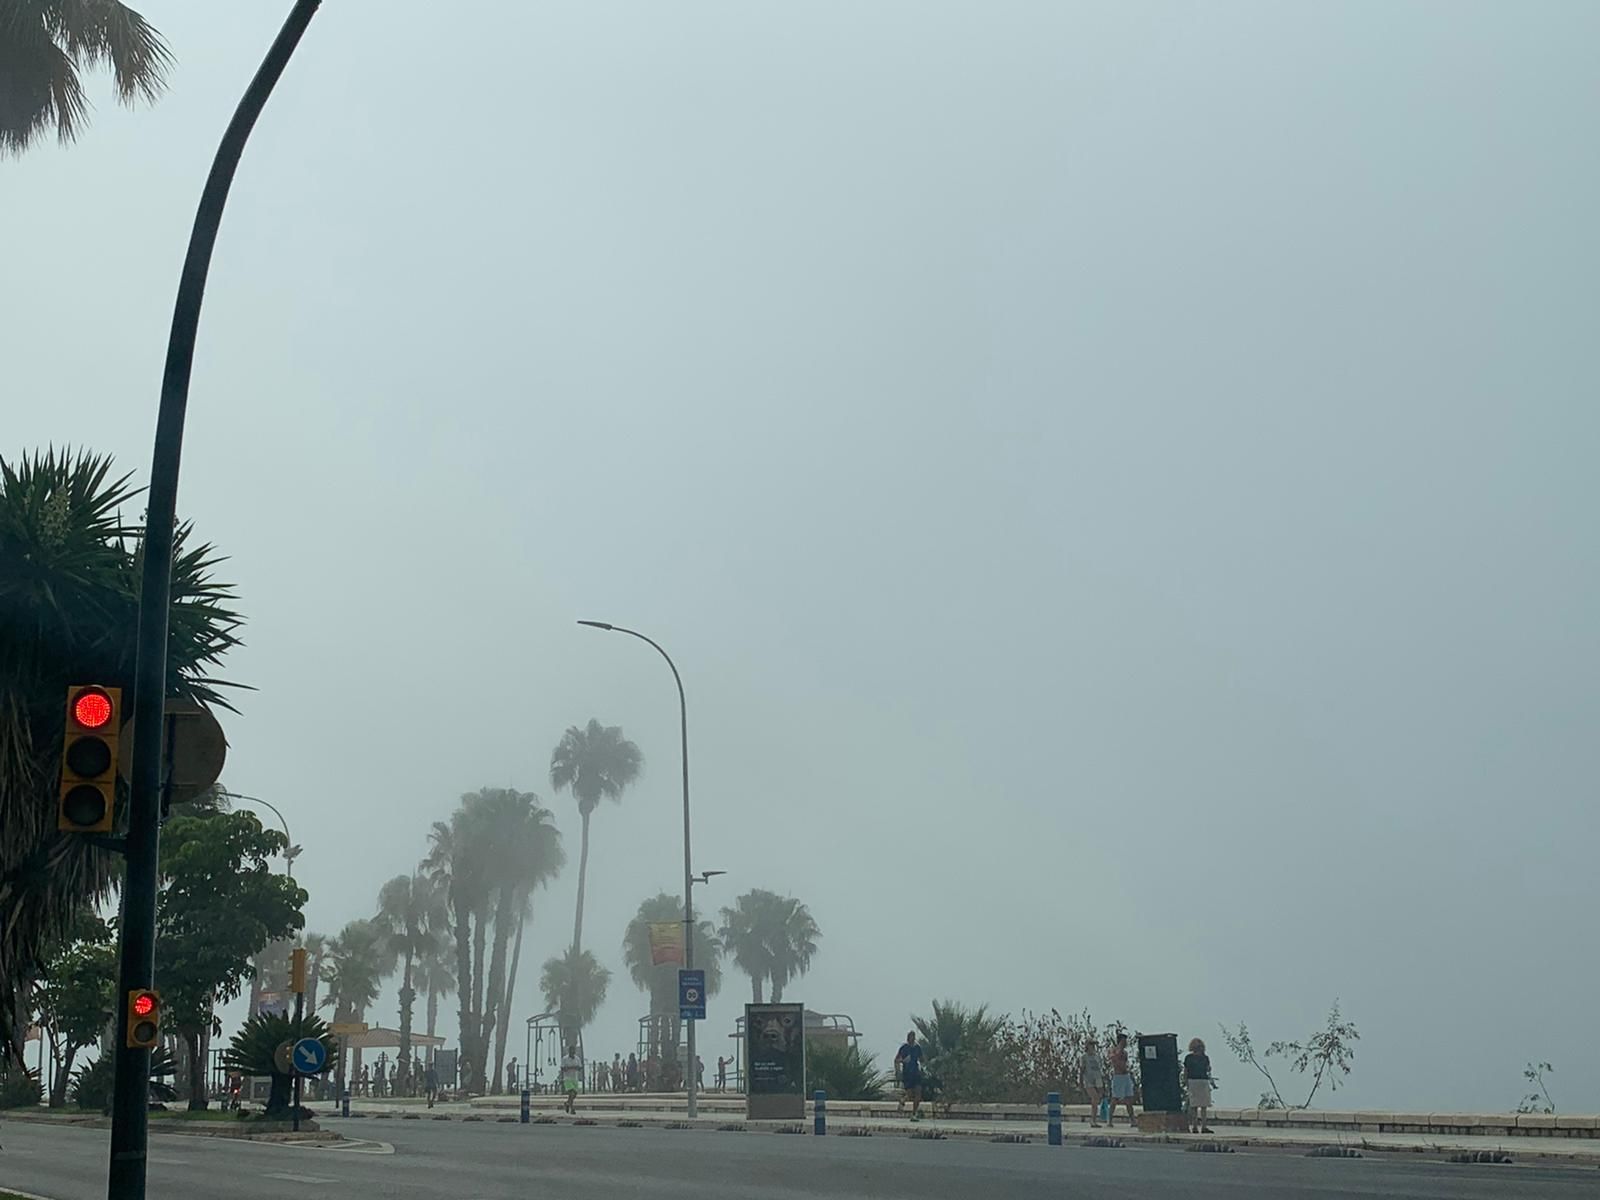
M243 990L253 957L306 918L306 891L272 870L286 846L253 813L173 816L162 830L155 978L165 1019L189 1053L189 1107L206 1107L206 1043L216 1005Z

